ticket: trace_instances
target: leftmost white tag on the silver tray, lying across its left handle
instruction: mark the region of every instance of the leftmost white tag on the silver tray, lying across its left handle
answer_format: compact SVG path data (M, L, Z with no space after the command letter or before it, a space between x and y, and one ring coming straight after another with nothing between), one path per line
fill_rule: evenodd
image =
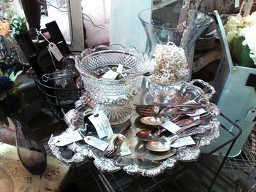
M54 143L56 146L64 146L82 139L83 137L80 135L79 131L75 130L56 136L54 138Z

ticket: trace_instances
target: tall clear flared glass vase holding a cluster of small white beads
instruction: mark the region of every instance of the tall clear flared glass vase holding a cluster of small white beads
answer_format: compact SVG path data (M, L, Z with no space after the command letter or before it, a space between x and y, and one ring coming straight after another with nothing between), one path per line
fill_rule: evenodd
M138 17L148 37L152 101L165 104L175 96L175 86L190 79L195 40L213 20L203 12L174 6L146 9Z

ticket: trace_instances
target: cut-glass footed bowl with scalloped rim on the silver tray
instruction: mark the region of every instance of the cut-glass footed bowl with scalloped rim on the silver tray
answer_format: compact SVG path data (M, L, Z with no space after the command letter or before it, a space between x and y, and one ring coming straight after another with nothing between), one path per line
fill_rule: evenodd
M123 72L129 74L120 80L99 78L108 69L123 65ZM132 97L140 89L146 72L143 55L135 48L125 50L121 45L99 46L84 50L76 57L76 68L83 80L86 93L97 102L95 110L102 110L111 124L123 123L129 119Z

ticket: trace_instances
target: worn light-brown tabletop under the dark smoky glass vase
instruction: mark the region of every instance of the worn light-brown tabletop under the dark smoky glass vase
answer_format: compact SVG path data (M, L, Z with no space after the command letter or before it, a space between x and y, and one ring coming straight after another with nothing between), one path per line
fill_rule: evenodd
M41 175L34 175L21 164L15 146L0 143L0 167L11 177L14 191L58 191L70 166L61 163L57 158L51 156L47 158L48 164L45 172Z

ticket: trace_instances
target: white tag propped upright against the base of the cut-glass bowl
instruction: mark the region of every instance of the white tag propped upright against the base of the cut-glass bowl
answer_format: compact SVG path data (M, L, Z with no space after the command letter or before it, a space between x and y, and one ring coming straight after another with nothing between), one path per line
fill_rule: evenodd
M113 134L113 130L110 126L107 116L102 111L94 112L93 115L89 116L89 120L96 128L99 139L107 137L108 134Z

